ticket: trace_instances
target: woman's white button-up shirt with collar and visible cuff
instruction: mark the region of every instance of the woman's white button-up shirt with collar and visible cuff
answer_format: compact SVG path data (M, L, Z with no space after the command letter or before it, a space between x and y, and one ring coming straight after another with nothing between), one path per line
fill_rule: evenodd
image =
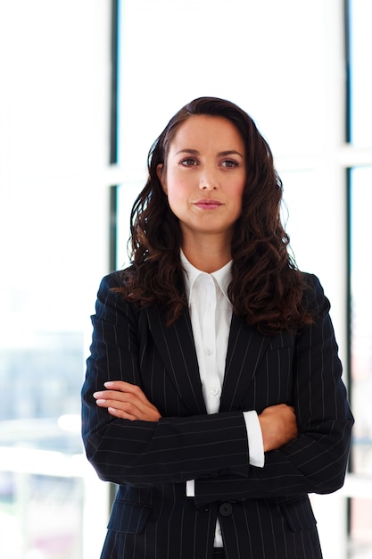
M181 251L181 263L204 402L208 413L218 413L233 313L227 296L231 262L209 274L195 268ZM249 440L249 463L263 467L262 433L257 413L244 412L244 420ZM187 481L186 495L194 496L194 480ZM214 545L223 546L219 521Z

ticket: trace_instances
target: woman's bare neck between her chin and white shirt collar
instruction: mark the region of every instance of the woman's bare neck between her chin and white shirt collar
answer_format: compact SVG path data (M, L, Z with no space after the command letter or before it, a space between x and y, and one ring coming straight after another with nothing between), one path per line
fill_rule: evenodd
M220 243L215 237L184 240L182 250L195 268L206 273L219 270L231 260L230 243Z

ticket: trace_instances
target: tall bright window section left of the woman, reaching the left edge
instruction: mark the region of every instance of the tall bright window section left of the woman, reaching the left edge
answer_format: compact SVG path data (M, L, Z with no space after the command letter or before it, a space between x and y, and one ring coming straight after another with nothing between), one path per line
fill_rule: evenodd
M0 2L2 559L86 557L79 415L107 271L108 5ZM91 532L103 541L104 521Z

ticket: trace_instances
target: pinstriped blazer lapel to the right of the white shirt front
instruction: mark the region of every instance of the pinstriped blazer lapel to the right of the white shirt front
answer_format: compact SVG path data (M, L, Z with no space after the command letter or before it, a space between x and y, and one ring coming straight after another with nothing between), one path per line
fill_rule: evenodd
M225 378L220 412L240 410L242 400L253 380L270 337L248 326L244 319L233 314L227 346Z

